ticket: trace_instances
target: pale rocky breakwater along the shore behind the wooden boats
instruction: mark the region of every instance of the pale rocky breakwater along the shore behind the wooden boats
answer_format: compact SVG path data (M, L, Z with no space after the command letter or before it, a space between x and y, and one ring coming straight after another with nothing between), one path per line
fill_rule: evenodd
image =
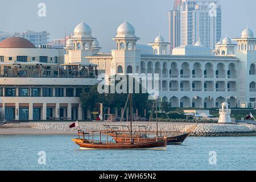
M32 127L39 130L53 130L53 131L75 131L76 129L69 129L70 123L35 123ZM104 123L104 122L81 122L80 128L82 130L108 130L106 125L115 126L116 130L127 130L129 123ZM122 126L120 126L122 125ZM140 127L146 126L146 127ZM136 122L133 125L133 130L156 131L155 123L151 122ZM235 124L223 125L216 123L169 123L160 122L159 131L164 133L184 133L192 130L193 137L237 137L237 136L256 136L256 125L249 124Z

